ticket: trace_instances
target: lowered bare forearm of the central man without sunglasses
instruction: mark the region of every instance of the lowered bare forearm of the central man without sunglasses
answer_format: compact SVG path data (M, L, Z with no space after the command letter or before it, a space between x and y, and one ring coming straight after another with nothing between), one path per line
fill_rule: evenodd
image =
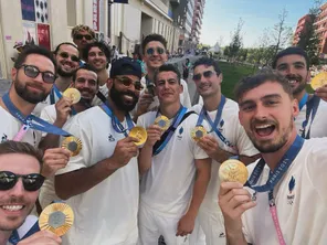
M210 163L209 163L210 164ZM211 164L210 164L211 167ZM209 171L207 169L201 169L197 171L197 177L196 177L196 182L193 185L193 193L192 193L192 199L191 203L188 210L188 213L197 216L200 205L204 199L205 192L207 192L207 187L210 181L210 167Z

